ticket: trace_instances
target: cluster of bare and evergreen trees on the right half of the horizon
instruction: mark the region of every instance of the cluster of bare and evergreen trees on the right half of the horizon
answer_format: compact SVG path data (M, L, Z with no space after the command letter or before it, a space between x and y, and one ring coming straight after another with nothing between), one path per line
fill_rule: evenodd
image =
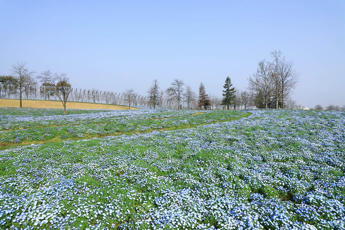
M270 53L272 60L265 59L258 62L255 73L248 78L246 90L233 87L231 79L226 78L223 86L223 98L207 94L204 84L199 86L199 95L186 86L183 80L174 79L171 86L165 91L159 91L157 80L152 82L148 89L150 108L156 108L160 101L172 100L181 108L181 102L187 102L188 109L293 109L296 101L291 98L293 90L299 81L300 73L294 69L294 62L287 60L283 53L273 51Z

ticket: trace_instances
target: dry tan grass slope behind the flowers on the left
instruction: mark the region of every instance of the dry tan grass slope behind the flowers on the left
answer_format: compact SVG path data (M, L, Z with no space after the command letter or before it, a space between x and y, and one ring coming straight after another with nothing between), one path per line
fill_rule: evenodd
M26 108L55 108L63 109L60 101L44 101L44 100L22 100L22 106ZM19 107L17 99L0 99L0 107ZM112 104L96 104L84 102L67 102L67 109L120 109L126 110L128 106L115 106ZM132 108L130 109L137 109Z

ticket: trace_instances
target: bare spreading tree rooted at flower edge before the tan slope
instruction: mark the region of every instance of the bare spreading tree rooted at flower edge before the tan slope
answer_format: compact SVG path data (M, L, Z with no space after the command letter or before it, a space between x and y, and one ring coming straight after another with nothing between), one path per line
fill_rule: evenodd
M50 83L56 87L55 95L59 98L63 105L63 114L66 114L66 103L71 92L71 84L66 73L52 73L51 70L46 70L40 73L37 78L43 83Z

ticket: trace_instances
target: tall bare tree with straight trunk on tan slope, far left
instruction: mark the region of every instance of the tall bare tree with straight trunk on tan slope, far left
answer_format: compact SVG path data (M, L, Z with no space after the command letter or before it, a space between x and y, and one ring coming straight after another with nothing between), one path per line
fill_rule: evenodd
M17 86L19 89L19 108L22 108L22 93L24 92L25 85L28 85L29 82L33 81L32 76L35 71L30 71L26 67L27 62L17 62L11 66L11 71L13 78L16 79Z

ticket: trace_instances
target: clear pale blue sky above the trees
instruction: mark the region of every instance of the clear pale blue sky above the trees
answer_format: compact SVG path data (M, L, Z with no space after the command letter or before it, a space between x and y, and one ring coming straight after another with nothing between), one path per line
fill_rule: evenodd
M344 0L0 0L0 74L22 60L77 88L144 94L179 78L221 96L279 49L300 71L298 104L345 104Z

